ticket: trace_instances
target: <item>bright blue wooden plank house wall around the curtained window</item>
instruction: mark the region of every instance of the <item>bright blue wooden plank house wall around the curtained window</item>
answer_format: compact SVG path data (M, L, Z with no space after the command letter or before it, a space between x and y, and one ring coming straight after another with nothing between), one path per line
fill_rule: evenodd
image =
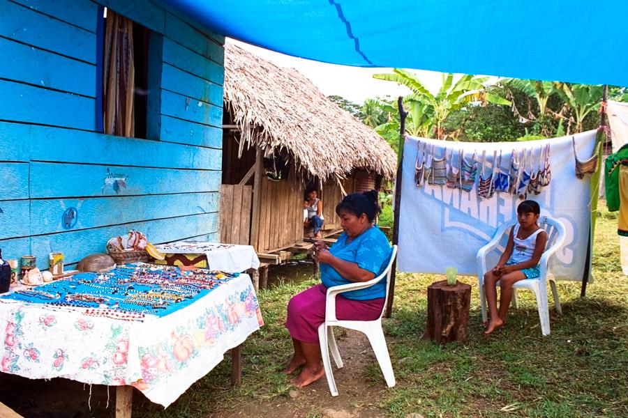
M149 139L98 132L99 6L155 33ZM76 263L129 229L217 241L223 44L158 1L0 0L3 258Z

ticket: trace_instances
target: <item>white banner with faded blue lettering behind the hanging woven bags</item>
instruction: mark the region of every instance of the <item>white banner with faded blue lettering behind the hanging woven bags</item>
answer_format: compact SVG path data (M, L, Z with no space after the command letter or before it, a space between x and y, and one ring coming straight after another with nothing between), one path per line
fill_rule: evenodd
M574 147L576 141L578 159L587 160L595 146L595 131L583 132L569 137L521 142L445 142L435 139L407 137L403 151L403 183L399 219L398 269L403 272L425 272L444 274L445 267L456 266L459 274L477 274L476 255L495 230L511 219L516 219L516 209L521 199L508 192L495 192L488 199L477 195L477 181L470 192L451 189L445 185L428 183L417 187L414 183L418 145L421 142L434 147L433 155L440 158L447 148L447 155L463 150L466 160L477 153L478 176L481 172L481 155L486 150L486 169L492 168L493 151L502 153L502 170L506 171L513 150L521 153L532 150L525 167L534 161L534 167L542 163L541 149L550 145L551 183L541 193L528 194L528 199L537 201L541 215L559 219L565 224L565 245L550 261L550 271L557 279L581 281L586 260L590 227L590 179L576 178ZM420 160L419 160L420 161ZM499 254L491 254L490 263L498 261ZM494 260L493 260L494 258Z

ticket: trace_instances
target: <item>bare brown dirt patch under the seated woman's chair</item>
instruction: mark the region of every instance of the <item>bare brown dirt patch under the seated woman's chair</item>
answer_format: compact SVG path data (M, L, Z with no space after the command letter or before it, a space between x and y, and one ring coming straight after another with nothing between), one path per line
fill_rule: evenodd
M366 373L368 366L377 366L366 336L357 331L343 331L338 337L338 348L343 357L343 369L336 369L334 360L331 360L338 396L331 396L327 379L323 377L308 387L295 387L290 396L281 398L280 401L251 400L240 403L237 408L218 410L214 417L385 417L384 410L377 402L382 398L380 392L387 390L387 386L381 372L379 378L373 379L375 381L371 381ZM377 369L379 370L379 366Z

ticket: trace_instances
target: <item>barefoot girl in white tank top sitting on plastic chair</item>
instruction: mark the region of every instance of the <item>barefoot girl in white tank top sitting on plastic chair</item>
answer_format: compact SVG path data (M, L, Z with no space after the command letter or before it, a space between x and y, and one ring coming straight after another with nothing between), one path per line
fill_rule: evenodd
M508 244L497 265L484 274L486 302L491 318L484 334L504 325L512 297L512 285L539 277L539 261L547 244L547 233L537 224L541 208L531 200L519 203L518 224L510 231ZM500 309L497 308L497 281L500 281Z

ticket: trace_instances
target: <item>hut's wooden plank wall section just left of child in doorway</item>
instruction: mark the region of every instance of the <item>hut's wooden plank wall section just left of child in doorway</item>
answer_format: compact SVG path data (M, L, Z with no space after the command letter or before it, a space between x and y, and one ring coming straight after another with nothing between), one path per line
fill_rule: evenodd
M288 180L262 178L257 252L294 245L303 238L303 189Z

